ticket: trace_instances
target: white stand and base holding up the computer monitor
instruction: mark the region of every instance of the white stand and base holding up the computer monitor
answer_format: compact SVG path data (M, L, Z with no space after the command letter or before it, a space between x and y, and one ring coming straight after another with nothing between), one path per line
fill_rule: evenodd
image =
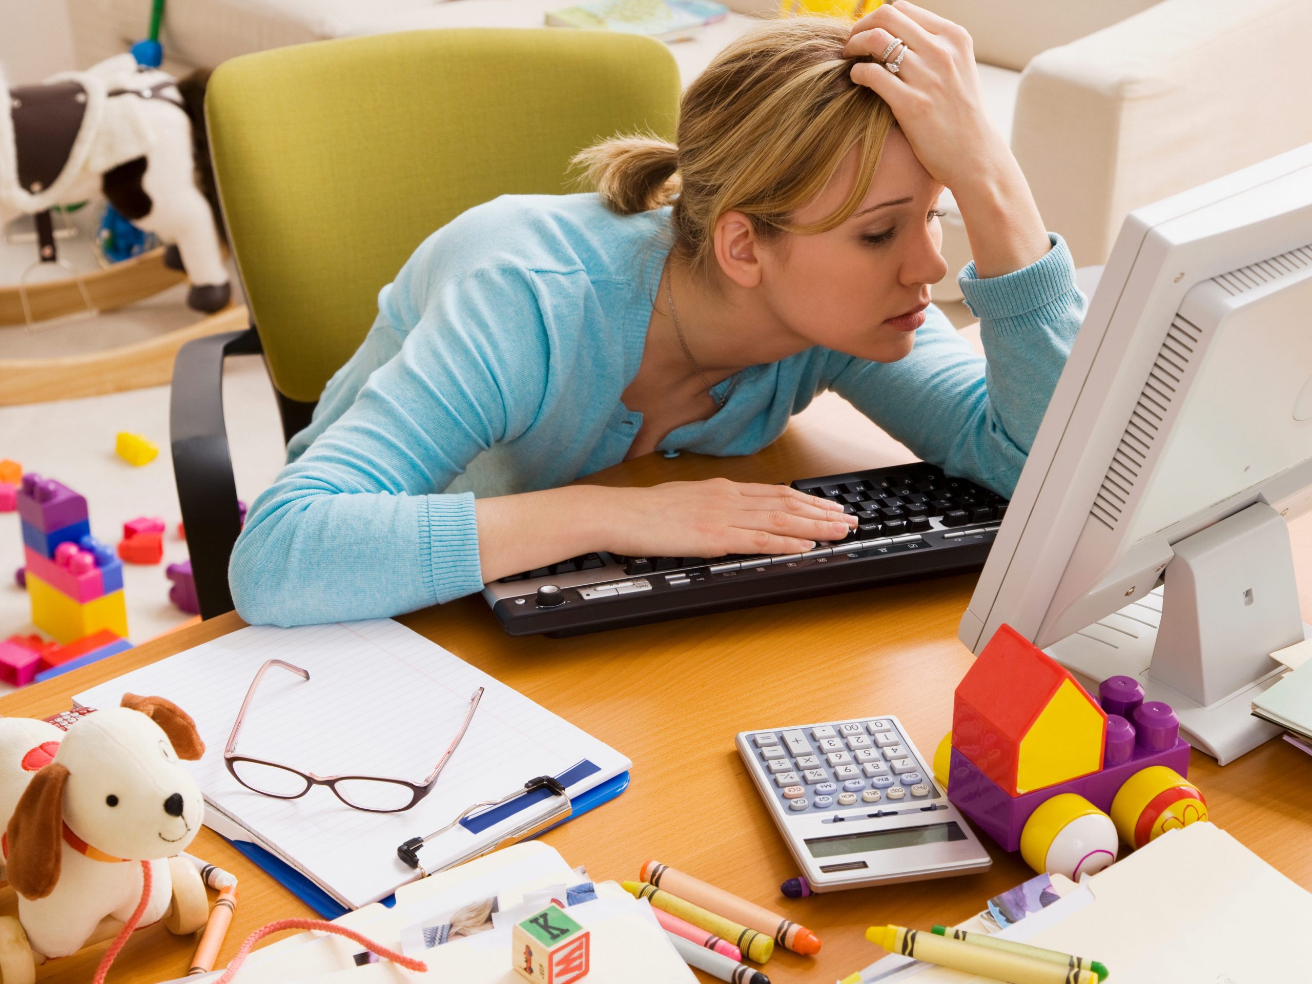
M1257 502L1172 548L1161 588L1047 653L1090 693L1107 677L1135 677L1147 699L1176 708L1194 748L1225 765L1281 733L1252 703L1284 669L1270 653L1312 639L1288 529Z

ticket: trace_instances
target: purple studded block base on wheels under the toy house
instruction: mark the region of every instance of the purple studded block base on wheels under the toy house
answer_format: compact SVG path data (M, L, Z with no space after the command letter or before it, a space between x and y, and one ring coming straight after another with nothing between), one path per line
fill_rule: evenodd
M1111 687L1109 695L1107 684L1115 680L1130 680L1139 690L1138 699L1119 684ZM1140 769L1165 765L1181 775L1189 775L1189 743L1179 737L1179 718L1170 705L1160 701L1144 703L1143 687L1130 677L1103 681L1098 697L1109 714L1101 771L1044 786L1021 796L1009 796L954 748L947 774L947 798L1004 850L1019 850L1021 830L1030 813L1059 792L1075 792L1098 810L1110 812L1117 792ZM1134 723L1113 711L1113 707L1128 710Z

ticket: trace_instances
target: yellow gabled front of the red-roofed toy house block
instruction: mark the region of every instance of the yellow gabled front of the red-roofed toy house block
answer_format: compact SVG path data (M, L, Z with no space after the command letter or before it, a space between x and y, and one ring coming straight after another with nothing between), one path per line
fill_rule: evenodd
M1021 739L1017 794L1098 771L1102 744L1102 716L1080 687L1063 681Z

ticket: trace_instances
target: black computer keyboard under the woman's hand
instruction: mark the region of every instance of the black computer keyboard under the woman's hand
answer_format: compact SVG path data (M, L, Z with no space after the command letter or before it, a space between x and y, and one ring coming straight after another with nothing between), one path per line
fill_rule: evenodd
M858 518L842 541L781 556L588 554L483 590L510 635L602 628L792 601L925 575L977 571L1006 500L924 462L800 479Z

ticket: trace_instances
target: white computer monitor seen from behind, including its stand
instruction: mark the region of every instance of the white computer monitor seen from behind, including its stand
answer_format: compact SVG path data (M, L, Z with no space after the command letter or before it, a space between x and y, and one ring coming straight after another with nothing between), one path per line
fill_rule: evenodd
M1128 215L959 636L1136 677L1224 765L1278 733L1250 703L1312 638L1309 508L1312 144Z

